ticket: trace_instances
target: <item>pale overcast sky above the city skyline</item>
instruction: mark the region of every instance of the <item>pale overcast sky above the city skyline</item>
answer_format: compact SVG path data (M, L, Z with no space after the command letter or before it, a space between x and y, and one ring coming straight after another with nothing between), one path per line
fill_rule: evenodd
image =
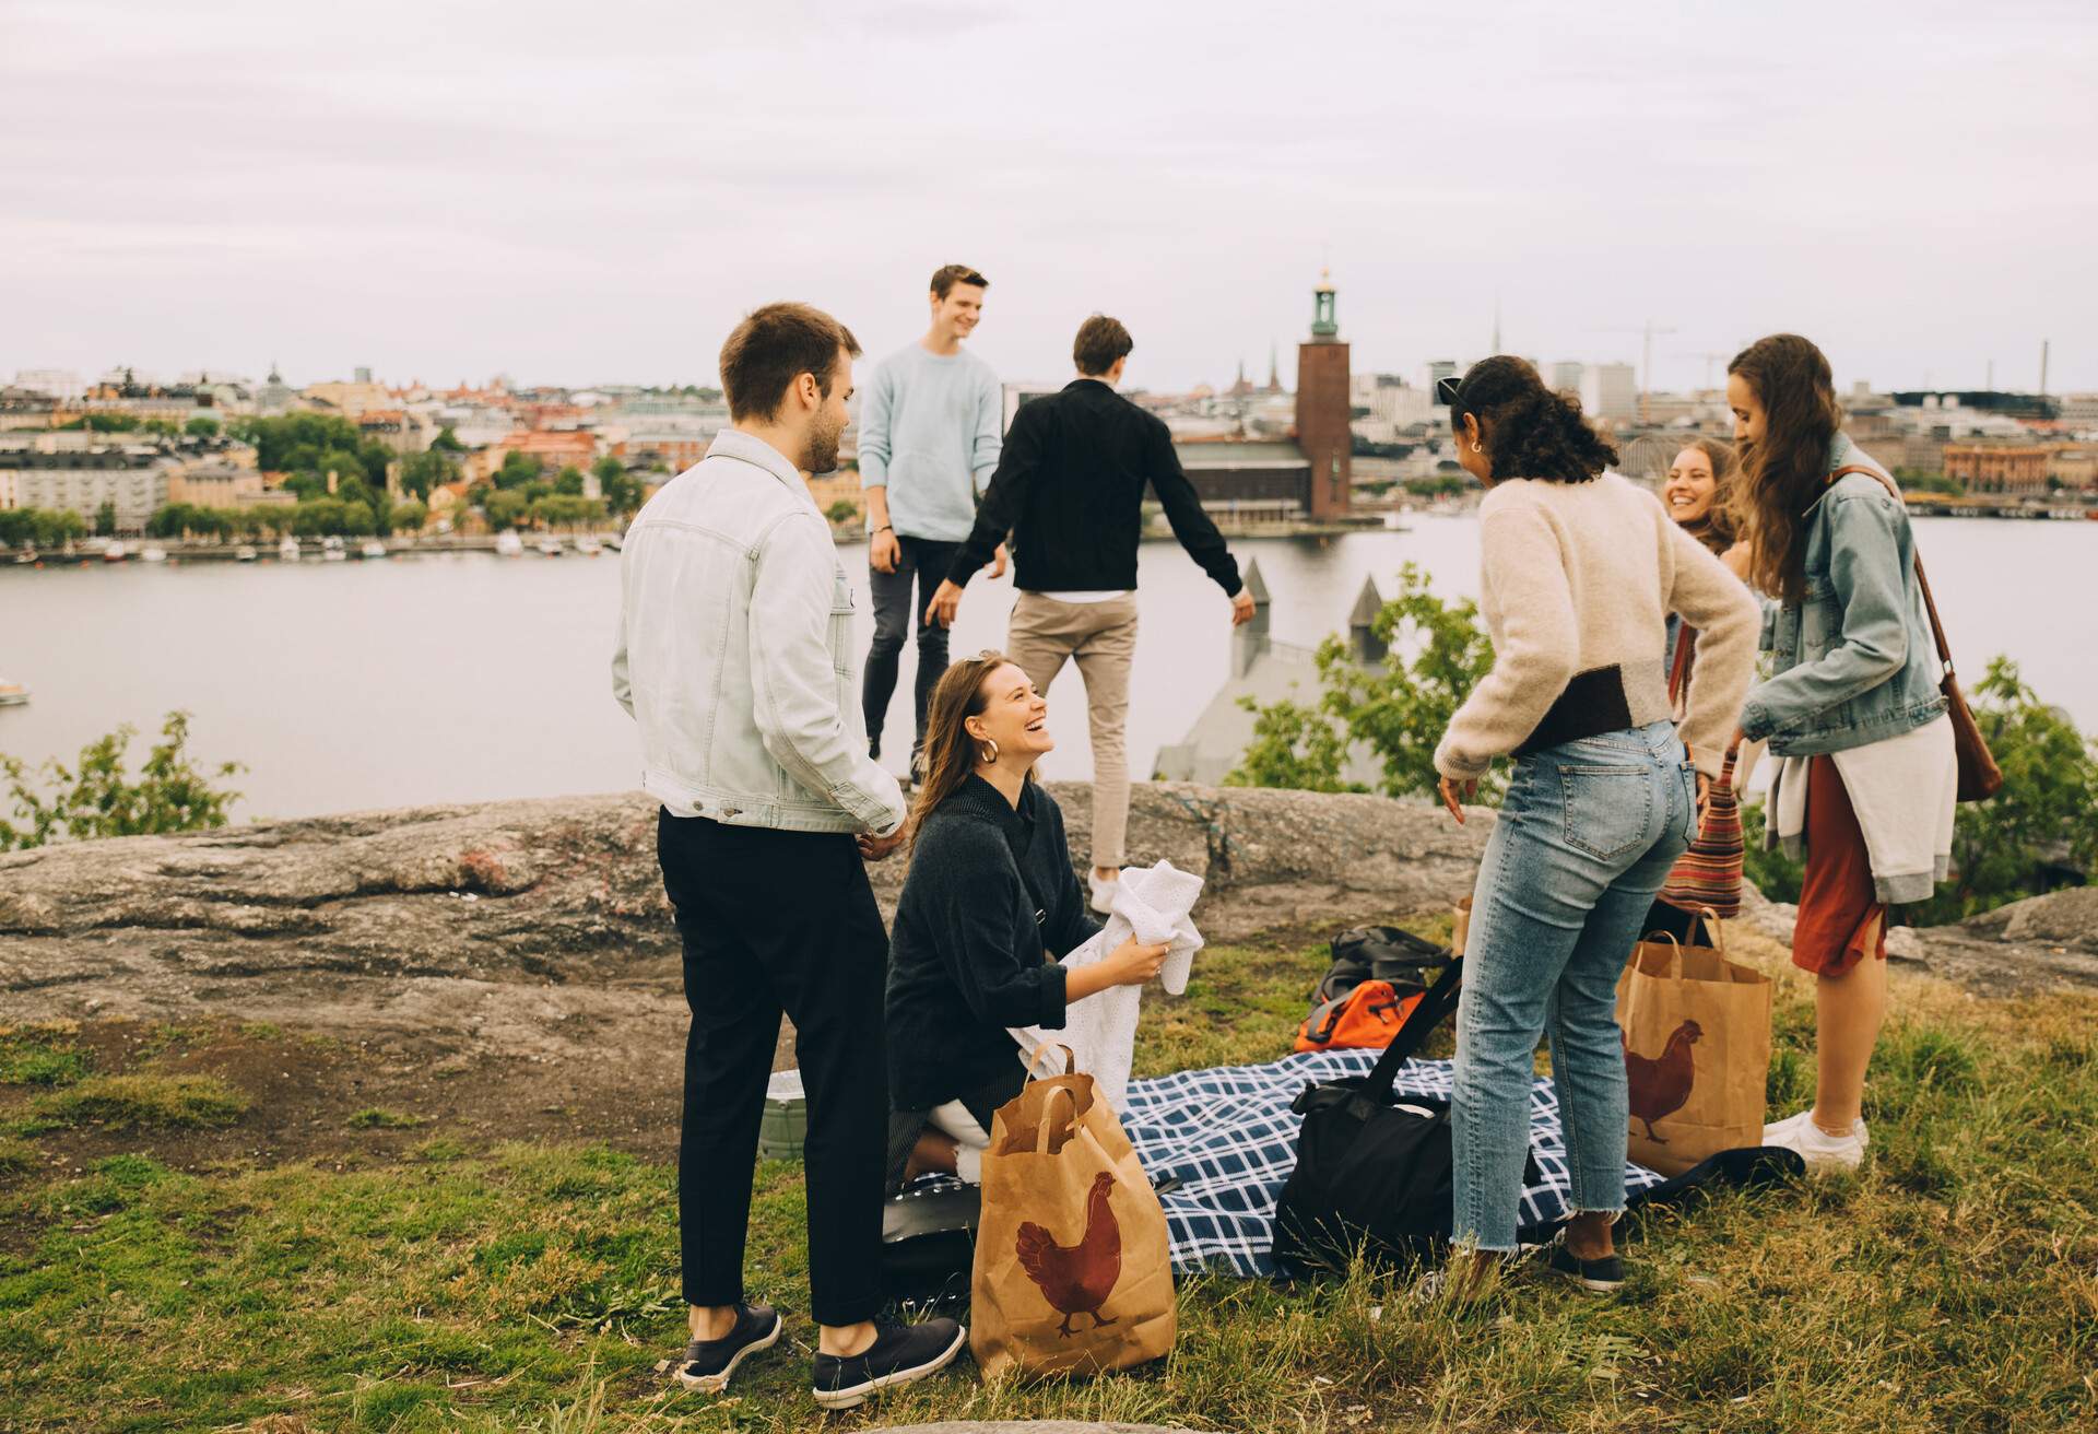
M2098 388L2098 6L0 0L0 376L711 382L734 319L1282 376L1502 346ZM1718 355L1710 363L1706 355Z

